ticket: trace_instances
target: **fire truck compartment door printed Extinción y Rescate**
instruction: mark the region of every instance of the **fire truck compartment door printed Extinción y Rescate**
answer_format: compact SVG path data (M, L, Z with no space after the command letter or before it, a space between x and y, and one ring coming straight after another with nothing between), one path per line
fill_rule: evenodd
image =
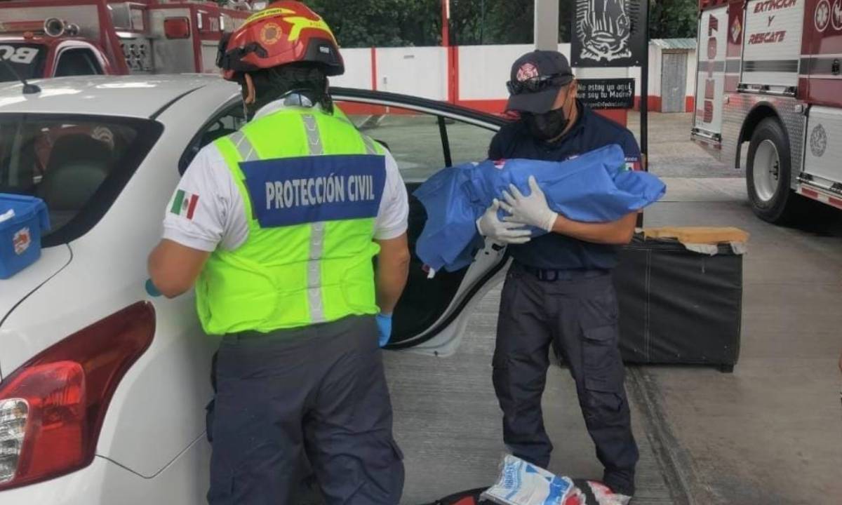
M798 85L806 1L751 0L746 5L743 84Z

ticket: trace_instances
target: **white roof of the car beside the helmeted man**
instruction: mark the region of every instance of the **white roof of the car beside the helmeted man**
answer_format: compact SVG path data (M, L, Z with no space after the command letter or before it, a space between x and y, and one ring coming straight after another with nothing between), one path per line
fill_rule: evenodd
M58 77L30 81L40 93L23 93L20 82L0 83L0 114L94 114L152 118L201 88L237 90L237 84L200 74Z

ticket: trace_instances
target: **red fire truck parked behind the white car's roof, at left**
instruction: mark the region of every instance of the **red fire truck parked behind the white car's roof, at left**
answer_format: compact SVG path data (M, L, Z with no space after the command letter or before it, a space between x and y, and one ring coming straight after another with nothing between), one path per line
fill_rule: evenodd
M0 82L20 77L216 72L216 45L250 3L0 1Z

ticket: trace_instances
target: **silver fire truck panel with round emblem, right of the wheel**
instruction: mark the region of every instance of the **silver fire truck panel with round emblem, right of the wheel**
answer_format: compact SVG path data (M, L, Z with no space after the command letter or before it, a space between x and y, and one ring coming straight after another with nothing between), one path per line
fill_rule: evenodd
M806 144L804 172L822 186L842 184L842 109L811 107Z

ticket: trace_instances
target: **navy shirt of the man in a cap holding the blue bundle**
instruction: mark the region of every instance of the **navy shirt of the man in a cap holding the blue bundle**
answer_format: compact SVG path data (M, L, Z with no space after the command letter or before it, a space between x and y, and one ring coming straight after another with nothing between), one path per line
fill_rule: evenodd
M606 119L577 101L578 119L560 140L551 143L530 136L522 121L505 125L491 141L488 158L492 160L526 158L563 162L609 144L617 144L626 153L626 166L640 167L640 148L632 132ZM535 268L610 269L617 263L617 247L583 242L557 233L533 238L523 245L509 246L515 261Z

